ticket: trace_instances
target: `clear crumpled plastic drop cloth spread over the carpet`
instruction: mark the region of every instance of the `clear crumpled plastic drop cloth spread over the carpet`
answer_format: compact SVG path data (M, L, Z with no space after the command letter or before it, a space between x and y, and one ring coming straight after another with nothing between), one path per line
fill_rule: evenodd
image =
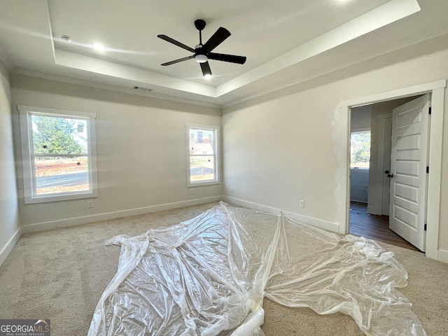
M263 297L349 314L366 335L426 335L395 288L407 272L374 241L224 202L190 221L120 235L118 272L88 335L264 335Z

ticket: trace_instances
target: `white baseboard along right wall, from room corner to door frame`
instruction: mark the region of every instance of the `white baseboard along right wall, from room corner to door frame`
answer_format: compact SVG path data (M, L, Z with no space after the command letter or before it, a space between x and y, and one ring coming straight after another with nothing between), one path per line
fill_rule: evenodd
M294 219L295 221L299 221L304 224L312 225L312 226L315 226L316 228L321 228L323 230L328 230L328 231L332 231L332 232L339 232L339 224L337 224L337 223L323 221L318 218L303 216L301 214L296 214L295 212L283 211L281 209L267 207L265 205L258 204L258 203L239 200L234 197L223 196L223 201L232 203L235 205L239 205L241 207L255 209L258 211L263 211L263 212L266 212L267 214L274 214L274 215L283 214L289 218Z

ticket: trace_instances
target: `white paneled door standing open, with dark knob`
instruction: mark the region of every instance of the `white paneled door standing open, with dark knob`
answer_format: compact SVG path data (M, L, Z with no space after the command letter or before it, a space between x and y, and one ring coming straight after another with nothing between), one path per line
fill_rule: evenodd
M389 228L425 251L429 94L393 110Z

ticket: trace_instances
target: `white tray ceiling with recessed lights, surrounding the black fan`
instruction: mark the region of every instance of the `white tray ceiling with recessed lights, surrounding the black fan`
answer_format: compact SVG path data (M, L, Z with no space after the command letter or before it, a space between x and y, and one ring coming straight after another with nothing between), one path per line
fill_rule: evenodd
M13 73L216 106L448 34L447 0L0 0L0 8L0 58ZM228 29L214 52L246 63L210 60L209 80L194 59L161 66L191 53L157 35L195 48L196 19L207 22L203 42Z

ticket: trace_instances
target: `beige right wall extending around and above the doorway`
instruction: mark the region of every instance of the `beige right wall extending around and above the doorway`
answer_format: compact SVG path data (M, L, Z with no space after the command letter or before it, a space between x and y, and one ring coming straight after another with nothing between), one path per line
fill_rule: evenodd
M226 199L289 211L309 223L337 230L342 218L339 206L344 202L339 199L344 183L339 177L346 169L341 158L348 149L339 102L448 78L447 59L448 36L442 36L226 108ZM445 91L445 114L446 97ZM445 116L445 129L447 120ZM440 202L447 204L446 137L443 145ZM304 208L299 200L305 201ZM441 209L439 248L448 251L448 208Z

